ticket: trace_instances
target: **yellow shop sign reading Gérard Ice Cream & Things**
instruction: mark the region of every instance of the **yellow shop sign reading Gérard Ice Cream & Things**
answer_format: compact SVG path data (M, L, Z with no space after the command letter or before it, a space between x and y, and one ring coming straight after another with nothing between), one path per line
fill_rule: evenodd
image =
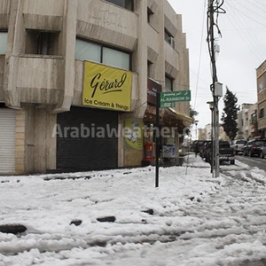
M84 61L83 106L129 112L131 72Z

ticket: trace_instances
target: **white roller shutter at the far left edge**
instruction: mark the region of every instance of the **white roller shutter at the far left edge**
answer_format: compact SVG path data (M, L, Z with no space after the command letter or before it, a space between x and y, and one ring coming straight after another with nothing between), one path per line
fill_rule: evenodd
M15 172L16 111L0 108L0 174Z

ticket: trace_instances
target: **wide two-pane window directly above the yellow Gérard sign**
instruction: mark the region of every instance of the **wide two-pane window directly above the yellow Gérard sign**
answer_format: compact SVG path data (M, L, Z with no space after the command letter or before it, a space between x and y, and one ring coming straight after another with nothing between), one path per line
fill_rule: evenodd
M128 52L80 39L76 39L75 59L94 61L107 66L130 70L130 54Z

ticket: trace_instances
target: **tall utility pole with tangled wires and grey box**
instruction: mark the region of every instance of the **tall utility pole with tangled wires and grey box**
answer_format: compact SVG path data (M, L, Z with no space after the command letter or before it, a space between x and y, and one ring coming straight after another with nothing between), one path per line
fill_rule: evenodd
M214 4L216 4L214 6ZM212 129L213 132L213 143L212 143L212 167L215 172L215 177L220 176L219 172L219 108L218 102L219 98L223 96L223 84L219 83L217 80L216 73L216 62L215 62L215 53L219 52L219 46L215 45L215 30L214 28L219 27L215 24L215 13L219 13L219 9L223 4L219 4L219 0L208 0L208 10L207 10L207 42L208 49L212 64L212 84L210 86L210 90L213 94L213 102L214 102L214 110L213 110L213 119L212 119ZM223 9L222 9L223 11ZM224 11L223 11L224 12Z

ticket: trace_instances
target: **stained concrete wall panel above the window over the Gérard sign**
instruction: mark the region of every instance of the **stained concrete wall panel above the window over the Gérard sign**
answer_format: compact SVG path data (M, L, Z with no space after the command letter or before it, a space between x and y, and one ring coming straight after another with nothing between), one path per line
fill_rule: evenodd
M137 24L137 14L117 5L101 0L79 1L76 30L79 36L133 51Z

